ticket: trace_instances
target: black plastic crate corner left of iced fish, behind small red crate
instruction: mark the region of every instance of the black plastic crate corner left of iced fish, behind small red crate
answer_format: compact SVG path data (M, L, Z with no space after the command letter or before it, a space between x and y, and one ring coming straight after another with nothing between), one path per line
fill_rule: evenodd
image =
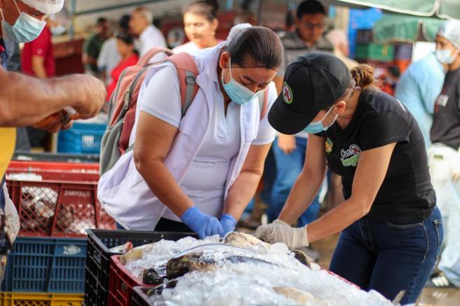
M179 240L183 237L197 237L194 233L149 232L133 230L86 230L88 252L86 254L86 306L106 306L108 302L110 258L121 253L110 252L114 246L133 243L141 246L161 239Z

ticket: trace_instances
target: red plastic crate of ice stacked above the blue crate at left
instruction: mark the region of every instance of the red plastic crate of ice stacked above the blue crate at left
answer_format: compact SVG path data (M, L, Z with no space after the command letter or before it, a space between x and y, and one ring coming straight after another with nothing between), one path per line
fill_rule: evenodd
M20 235L85 237L86 229L114 229L115 221L97 201L99 166L72 162L11 162L6 185L18 209ZM41 181L11 180L34 173Z

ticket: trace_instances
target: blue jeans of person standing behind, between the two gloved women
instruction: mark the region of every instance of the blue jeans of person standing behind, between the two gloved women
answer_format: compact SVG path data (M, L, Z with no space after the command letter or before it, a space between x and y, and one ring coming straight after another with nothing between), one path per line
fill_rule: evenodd
M273 155L276 160L276 178L273 182L271 189L271 195L269 198L269 209L266 214L269 217L269 221L273 221L278 218L281 209L288 200L288 195L291 192L291 188L299 176L305 162L305 150L306 150L306 139L295 137L296 148L292 153L285 154L278 147L278 137L273 141ZM318 211L320 210L320 203L318 201L318 195L315 200L309 206L302 216L299 217L297 226L301 227L309 224L316 220L318 217Z

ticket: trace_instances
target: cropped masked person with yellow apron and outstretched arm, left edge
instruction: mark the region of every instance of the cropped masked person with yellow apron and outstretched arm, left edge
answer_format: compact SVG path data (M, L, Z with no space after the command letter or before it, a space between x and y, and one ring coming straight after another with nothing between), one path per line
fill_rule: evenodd
M18 214L5 186L6 168L15 147L15 127L34 125L57 132L72 124L63 109L74 109L72 118L90 118L104 102L104 84L92 76L38 79L5 69L8 54L3 39L33 41L46 25L43 17L57 13L63 5L64 0L0 0L0 283L4 255L19 229Z

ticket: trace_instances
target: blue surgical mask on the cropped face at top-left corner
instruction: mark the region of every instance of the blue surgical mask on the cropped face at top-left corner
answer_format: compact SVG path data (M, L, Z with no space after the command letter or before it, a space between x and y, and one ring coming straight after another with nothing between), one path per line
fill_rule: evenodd
M18 8L18 4L16 1L13 0L15 3L16 8ZM36 19L30 15L27 15L24 12L21 12L18 8L19 17L16 20L14 25L8 24L4 18L3 10L1 12L1 32L6 39L10 41L15 41L16 43L28 43L29 41L33 41L36 39L43 28L46 25L46 21Z

